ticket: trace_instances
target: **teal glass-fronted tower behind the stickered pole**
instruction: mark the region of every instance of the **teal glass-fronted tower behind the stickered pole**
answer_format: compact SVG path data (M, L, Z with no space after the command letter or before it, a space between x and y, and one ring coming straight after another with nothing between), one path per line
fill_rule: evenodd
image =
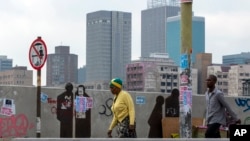
M169 57L176 65L180 66L181 60L181 16L169 17L167 19L167 46ZM195 63L196 54L205 53L205 18L192 17L192 54L191 62Z

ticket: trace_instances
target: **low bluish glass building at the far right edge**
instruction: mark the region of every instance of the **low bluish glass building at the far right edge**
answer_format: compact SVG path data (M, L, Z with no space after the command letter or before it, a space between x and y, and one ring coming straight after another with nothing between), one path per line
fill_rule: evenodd
M250 59L250 52L242 52L241 54L232 54L222 56L222 64L247 64Z

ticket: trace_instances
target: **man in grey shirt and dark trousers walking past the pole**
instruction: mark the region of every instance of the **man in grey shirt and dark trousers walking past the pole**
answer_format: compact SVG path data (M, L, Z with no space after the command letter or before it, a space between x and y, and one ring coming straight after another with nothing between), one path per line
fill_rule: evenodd
M240 124L241 120L232 111L224 99L224 94L215 86L217 77L209 75L207 78L206 97L206 124L205 138L221 138L220 127L226 124L226 113L231 115L235 123Z

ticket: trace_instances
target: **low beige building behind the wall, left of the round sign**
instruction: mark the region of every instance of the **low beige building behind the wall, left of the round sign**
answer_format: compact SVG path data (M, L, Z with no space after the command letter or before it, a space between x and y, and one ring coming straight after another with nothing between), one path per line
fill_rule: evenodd
M0 71L0 85L33 85L33 71L25 66L16 66Z

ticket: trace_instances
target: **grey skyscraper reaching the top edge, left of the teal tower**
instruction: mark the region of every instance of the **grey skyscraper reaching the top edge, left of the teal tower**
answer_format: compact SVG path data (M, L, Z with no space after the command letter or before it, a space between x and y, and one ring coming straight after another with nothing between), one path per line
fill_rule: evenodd
M148 8L141 12L141 57L166 53L166 20L179 11L173 0L148 0Z

